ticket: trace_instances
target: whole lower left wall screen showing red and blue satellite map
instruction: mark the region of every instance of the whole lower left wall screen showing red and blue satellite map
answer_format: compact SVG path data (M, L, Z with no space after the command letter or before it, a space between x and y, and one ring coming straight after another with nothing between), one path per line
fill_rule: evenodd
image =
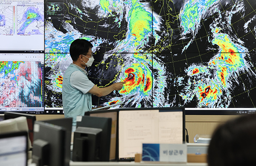
M44 54L0 54L0 112L44 113Z

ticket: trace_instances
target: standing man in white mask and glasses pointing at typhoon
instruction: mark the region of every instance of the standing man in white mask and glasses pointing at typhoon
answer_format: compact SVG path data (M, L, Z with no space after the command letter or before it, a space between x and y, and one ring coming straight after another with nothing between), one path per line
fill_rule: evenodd
M76 39L70 45L70 56L73 63L67 68L62 83L62 103L65 117L72 117L76 126L76 116L83 116L84 112L91 111L92 97L110 94L112 91L120 90L124 82L113 83L104 88L97 87L92 83L84 68L93 63L93 45L84 39ZM76 128L73 127L73 131Z

